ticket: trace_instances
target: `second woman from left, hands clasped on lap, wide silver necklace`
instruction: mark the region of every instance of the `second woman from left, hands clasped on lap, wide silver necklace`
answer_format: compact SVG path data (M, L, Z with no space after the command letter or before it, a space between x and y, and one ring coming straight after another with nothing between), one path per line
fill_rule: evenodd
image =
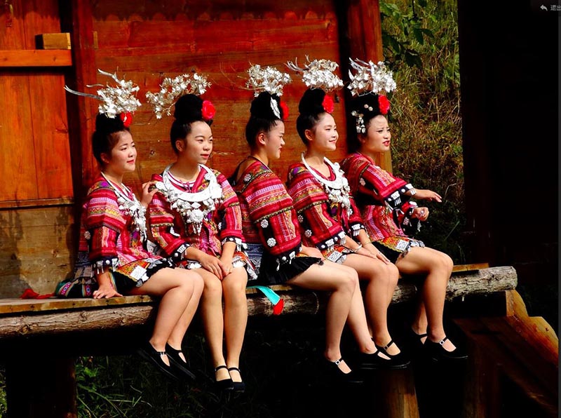
M208 86L205 76L184 75L171 84L185 86L182 91L172 88L180 92L170 130L177 160L152 176L156 194L149 205L151 232L177 266L203 277L200 312L217 388L243 392L239 361L248 322L245 267L250 274L252 268L244 251L238 198L222 173L205 166L215 115L212 103L199 97Z

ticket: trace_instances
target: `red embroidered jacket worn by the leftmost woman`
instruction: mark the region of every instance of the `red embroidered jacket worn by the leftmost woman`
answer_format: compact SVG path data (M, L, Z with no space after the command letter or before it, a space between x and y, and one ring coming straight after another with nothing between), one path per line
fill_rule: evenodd
M79 251L88 253L90 263L98 271L104 266L111 267L140 281L139 285L147 278L144 270L162 259L144 248L133 217L119 208L114 189L101 175L83 203Z

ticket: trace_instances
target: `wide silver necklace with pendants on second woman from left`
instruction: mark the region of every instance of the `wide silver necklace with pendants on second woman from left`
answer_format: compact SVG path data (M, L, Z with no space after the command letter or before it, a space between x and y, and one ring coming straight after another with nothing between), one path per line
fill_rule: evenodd
M162 181L156 182L156 188L161 191L171 208L180 213L186 224L192 224L197 234L201 233L205 217L222 201L222 187L218 184L215 173L203 164L199 164L199 167L205 170L205 180L208 180L208 186L204 190L195 193L177 190L170 174L171 165L163 170Z

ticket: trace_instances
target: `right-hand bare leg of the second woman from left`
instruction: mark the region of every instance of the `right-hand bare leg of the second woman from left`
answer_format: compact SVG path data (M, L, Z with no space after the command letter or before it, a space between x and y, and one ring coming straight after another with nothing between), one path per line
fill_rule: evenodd
M240 354L248 323L248 299L245 297L245 285L248 274L243 267L236 267L222 280L224 292L224 338L226 339L226 365L239 368ZM232 376L232 374L234 376ZM234 382L241 382L239 372L230 372Z

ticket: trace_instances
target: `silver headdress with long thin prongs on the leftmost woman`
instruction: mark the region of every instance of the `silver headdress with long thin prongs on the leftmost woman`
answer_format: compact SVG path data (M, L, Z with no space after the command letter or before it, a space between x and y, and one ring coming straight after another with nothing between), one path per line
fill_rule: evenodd
M141 103L136 98L136 93L140 90L140 88L133 84L133 81L120 80L116 73L111 74L104 72L101 69L97 69L97 71L104 76L114 79L117 86L107 85L105 88L100 88L100 90L97 90L97 95L81 93L79 91L72 90L72 88L69 88L68 86L65 86L65 90L75 95L92 97L93 99L101 100L102 103L98 107L98 111L102 114L106 114L109 118L114 118L116 114L133 113L141 106ZM91 84L86 87L97 86L102 86L102 84Z

